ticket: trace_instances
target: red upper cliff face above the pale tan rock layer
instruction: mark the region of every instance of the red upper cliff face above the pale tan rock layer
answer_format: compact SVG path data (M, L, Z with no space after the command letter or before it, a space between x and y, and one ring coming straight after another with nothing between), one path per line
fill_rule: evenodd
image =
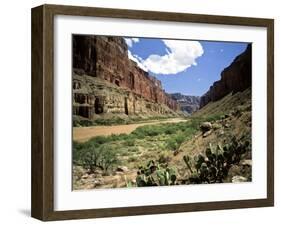
M130 60L127 51L121 37L73 35L73 68L178 110L177 102L165 93L161 82Z

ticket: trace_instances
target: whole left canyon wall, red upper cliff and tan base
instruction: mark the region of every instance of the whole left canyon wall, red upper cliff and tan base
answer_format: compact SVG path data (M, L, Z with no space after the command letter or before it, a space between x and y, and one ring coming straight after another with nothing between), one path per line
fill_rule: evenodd
M73 114L166 114L178 103L128 58L121 37L73 36Z

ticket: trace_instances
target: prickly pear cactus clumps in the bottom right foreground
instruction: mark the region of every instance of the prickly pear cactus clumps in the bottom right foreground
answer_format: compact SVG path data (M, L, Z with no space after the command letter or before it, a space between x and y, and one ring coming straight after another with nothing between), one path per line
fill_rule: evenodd
M205 151L205 155L199 154L192 158L183 156L187 178L180 178L175 168L168 164L156 163L150 160L147 165L139 167L136 177L136 186L163 186L179 184L204 184L223 183L233 165L239 165L245 155L251 152L250 136L243 135L239 140L232 137L229 144L214 148L211 144Z

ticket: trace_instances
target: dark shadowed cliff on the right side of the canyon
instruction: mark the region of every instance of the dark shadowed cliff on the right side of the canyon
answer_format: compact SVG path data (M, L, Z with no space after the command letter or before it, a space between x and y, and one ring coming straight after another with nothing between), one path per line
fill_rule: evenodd
M237 93L251 87L252 82L252 46L237 56L231 65L221 73L221 79L214 82L209 91L200 99L200 108L217 101L229 93Z

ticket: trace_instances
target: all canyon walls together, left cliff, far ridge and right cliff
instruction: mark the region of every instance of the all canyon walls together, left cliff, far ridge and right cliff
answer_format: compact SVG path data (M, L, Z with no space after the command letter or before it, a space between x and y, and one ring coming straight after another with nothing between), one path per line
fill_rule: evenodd
M161 81L128 58L122 37L73 35L73 115L178 116L192 114L251 85L251 45L223 70L202 97L167 94Z

